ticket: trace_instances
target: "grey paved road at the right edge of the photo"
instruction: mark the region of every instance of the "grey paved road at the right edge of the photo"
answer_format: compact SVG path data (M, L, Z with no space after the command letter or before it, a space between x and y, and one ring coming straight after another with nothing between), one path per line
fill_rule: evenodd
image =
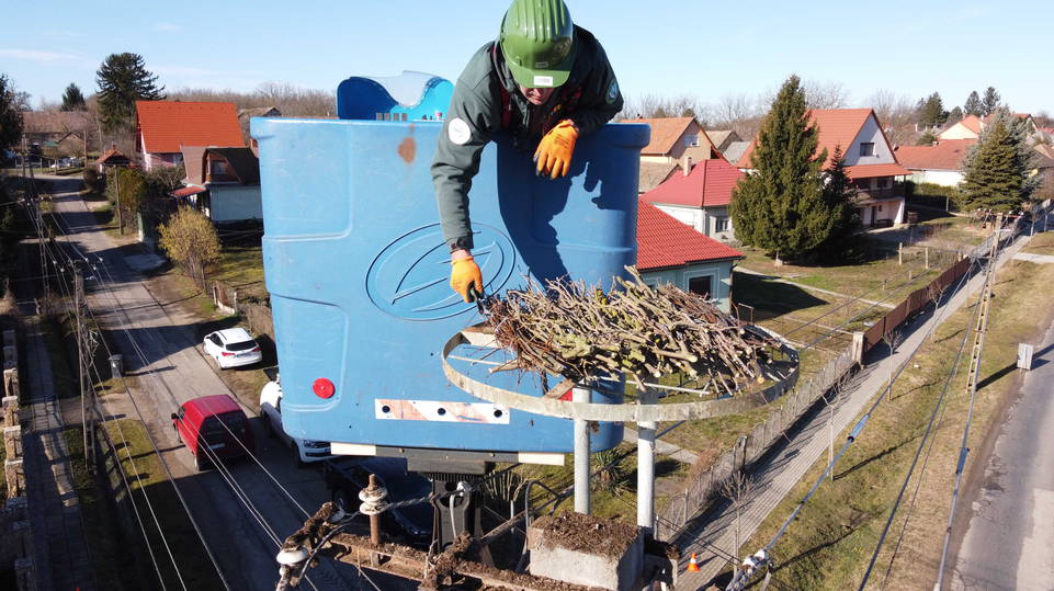
M1054 323L985 465L951 589L1054 589ZM968 491L964 491L967 493Z

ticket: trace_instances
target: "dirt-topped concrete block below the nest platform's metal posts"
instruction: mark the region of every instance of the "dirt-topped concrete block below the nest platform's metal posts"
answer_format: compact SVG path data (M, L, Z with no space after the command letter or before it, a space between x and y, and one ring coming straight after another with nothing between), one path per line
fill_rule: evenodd
M568 543L566 530L557 533L559 521L568 515L582 522L576 522L576 529L590 537L588 547ZM634 589L644 570L644 534L639 527L580 513L535 521L528 529L528 547L531 575L575 584L613 591Z

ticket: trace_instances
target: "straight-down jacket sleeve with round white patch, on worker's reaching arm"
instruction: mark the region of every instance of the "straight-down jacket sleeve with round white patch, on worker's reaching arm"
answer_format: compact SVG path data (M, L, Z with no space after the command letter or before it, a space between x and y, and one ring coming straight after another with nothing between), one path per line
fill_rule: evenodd
M456 241L467 249L473 248L468 191L479 171L479 155L490 141L497 123L498 109L488 80L486 77L466 80L464 75L457 80L432 161L432 184L443 240L447 245Z

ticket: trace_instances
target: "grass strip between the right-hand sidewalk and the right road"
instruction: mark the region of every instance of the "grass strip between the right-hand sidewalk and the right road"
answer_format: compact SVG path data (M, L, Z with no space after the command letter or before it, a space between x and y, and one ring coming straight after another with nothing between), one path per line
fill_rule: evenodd
M974 408L968 446L982 448L985 434L1000 422L1002 409L1017 380L1013 371L1019 342L1032 340L1045 327L1035 310L1046 309L1045 286L1054 281L1054 265L1011 261L1000 272L993 300L989 330L982 360L981 380ZM1012 297L1008 297L1012 294ZM882 402L866 429L835 469L834 481L825 482L805 507L797 521L773 550L780 565L774 571L779 587L793 589L855 588L877 543L893 501L907 474L926 423L953 365L963 336L970 336L973 302L942 325L913 360L911 367L898 379L892 400ZM1049 311L1045 314L1050 314ZM929 467L921 476L917 505L910 513L903 542L889 570L887 588L921 589L936 579L959 445L965 422L968 397L965 391L966 354L960 373L949 386L947 414L934 431ZM851 423L854 424L854 423ZM846 433L842 433L845 436ZM845 440L842 440L845 441ZM981 454L967 457L967 481L983 473ZM793 507L815 482L824 462L813 466L805 478L769 515L743 553L761 547L771 538ZM909 482L915 490L920 470ZM968 500L963 511L968 512ZM879 584L894 558L893 550L904 524L910 498L902 504L892 534L879 556ZM962 504L962 502L961 502Z

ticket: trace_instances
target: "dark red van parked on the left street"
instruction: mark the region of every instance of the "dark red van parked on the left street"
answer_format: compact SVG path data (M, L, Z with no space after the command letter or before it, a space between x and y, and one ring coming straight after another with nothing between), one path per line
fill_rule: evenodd
M194 467L203 470L227 458L256 451L249 419L229 395L202 396L183 402L172 413L172 428L194 456Z

